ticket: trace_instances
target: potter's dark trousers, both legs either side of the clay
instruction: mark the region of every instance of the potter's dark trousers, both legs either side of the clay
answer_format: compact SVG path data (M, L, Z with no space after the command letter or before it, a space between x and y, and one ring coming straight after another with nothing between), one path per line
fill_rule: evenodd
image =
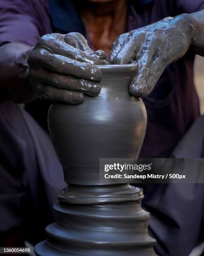
M196 123L193 134L204 145L204 117ZM185 137L174 151L175 157L188 157L187 152L180 154L189 143ZM203 157L199 152L188 153ZM42 241L45 226L54 221L56 195L64 187L62 169L47 133L20 106L0 103L0 234L4 245L16 229L22 241ZM149 231L157 238L157 253L187 256L199 238L204 185L154 184L145 187L144 195L142 205L151 213Z

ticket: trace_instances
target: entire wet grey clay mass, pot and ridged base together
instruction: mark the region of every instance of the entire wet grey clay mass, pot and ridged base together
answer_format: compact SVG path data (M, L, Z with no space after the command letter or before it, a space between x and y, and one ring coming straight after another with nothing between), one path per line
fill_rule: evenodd
M54 103L48 114L52 143L67 188L54 206L56 223L37 255L154 256L149 213L142 189L99 179L100 158L137 158L147 114L141 99L128 93L137 65L106 65L101 92L80 105Z

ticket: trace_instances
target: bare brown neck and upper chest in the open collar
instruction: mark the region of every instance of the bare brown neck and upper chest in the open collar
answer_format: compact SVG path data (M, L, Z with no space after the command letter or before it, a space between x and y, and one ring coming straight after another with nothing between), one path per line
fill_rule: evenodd
M92 3L80 8L82 20L96 50L102 49L107 57L112 43L125 32L127 18L127 0Z

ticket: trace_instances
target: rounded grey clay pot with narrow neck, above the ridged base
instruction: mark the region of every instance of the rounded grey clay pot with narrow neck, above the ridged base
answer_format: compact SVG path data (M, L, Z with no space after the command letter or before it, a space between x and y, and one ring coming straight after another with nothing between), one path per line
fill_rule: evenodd
M141 99L129 95L135 64L100 66L101 92L81 105L53 103L52 143L70 184L99 185L100 158L137 158L147 125Z

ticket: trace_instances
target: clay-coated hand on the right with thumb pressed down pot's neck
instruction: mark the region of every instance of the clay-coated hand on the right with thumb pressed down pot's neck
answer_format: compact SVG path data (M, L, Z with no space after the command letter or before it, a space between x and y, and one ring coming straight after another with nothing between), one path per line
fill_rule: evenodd
M136 60L137 72L129 86L135 97L148 95L168 64L181 58L189 48L194 26L188 14L165 18L119 36L112 46L111 64Z

